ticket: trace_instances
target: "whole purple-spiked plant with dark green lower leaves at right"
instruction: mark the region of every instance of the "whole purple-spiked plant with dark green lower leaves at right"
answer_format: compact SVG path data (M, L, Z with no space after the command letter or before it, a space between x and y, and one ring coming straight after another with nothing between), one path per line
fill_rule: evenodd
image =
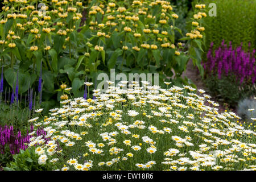
M250 44L249 44L250 47ZM233 48L224 44L213 50L213 43L205 62L205 82L215 96L236 107L237 102L255 96L256 64L255 49L244 51L242 46Z

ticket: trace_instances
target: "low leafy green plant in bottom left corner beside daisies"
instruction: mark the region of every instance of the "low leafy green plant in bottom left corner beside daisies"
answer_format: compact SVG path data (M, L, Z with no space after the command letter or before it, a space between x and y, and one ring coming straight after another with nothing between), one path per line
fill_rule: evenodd
M25 151L20 150L19 154L13 155L13 159L3 168L5 171L51 171L53 169L52 164L38 164L35 147L28 147Z

